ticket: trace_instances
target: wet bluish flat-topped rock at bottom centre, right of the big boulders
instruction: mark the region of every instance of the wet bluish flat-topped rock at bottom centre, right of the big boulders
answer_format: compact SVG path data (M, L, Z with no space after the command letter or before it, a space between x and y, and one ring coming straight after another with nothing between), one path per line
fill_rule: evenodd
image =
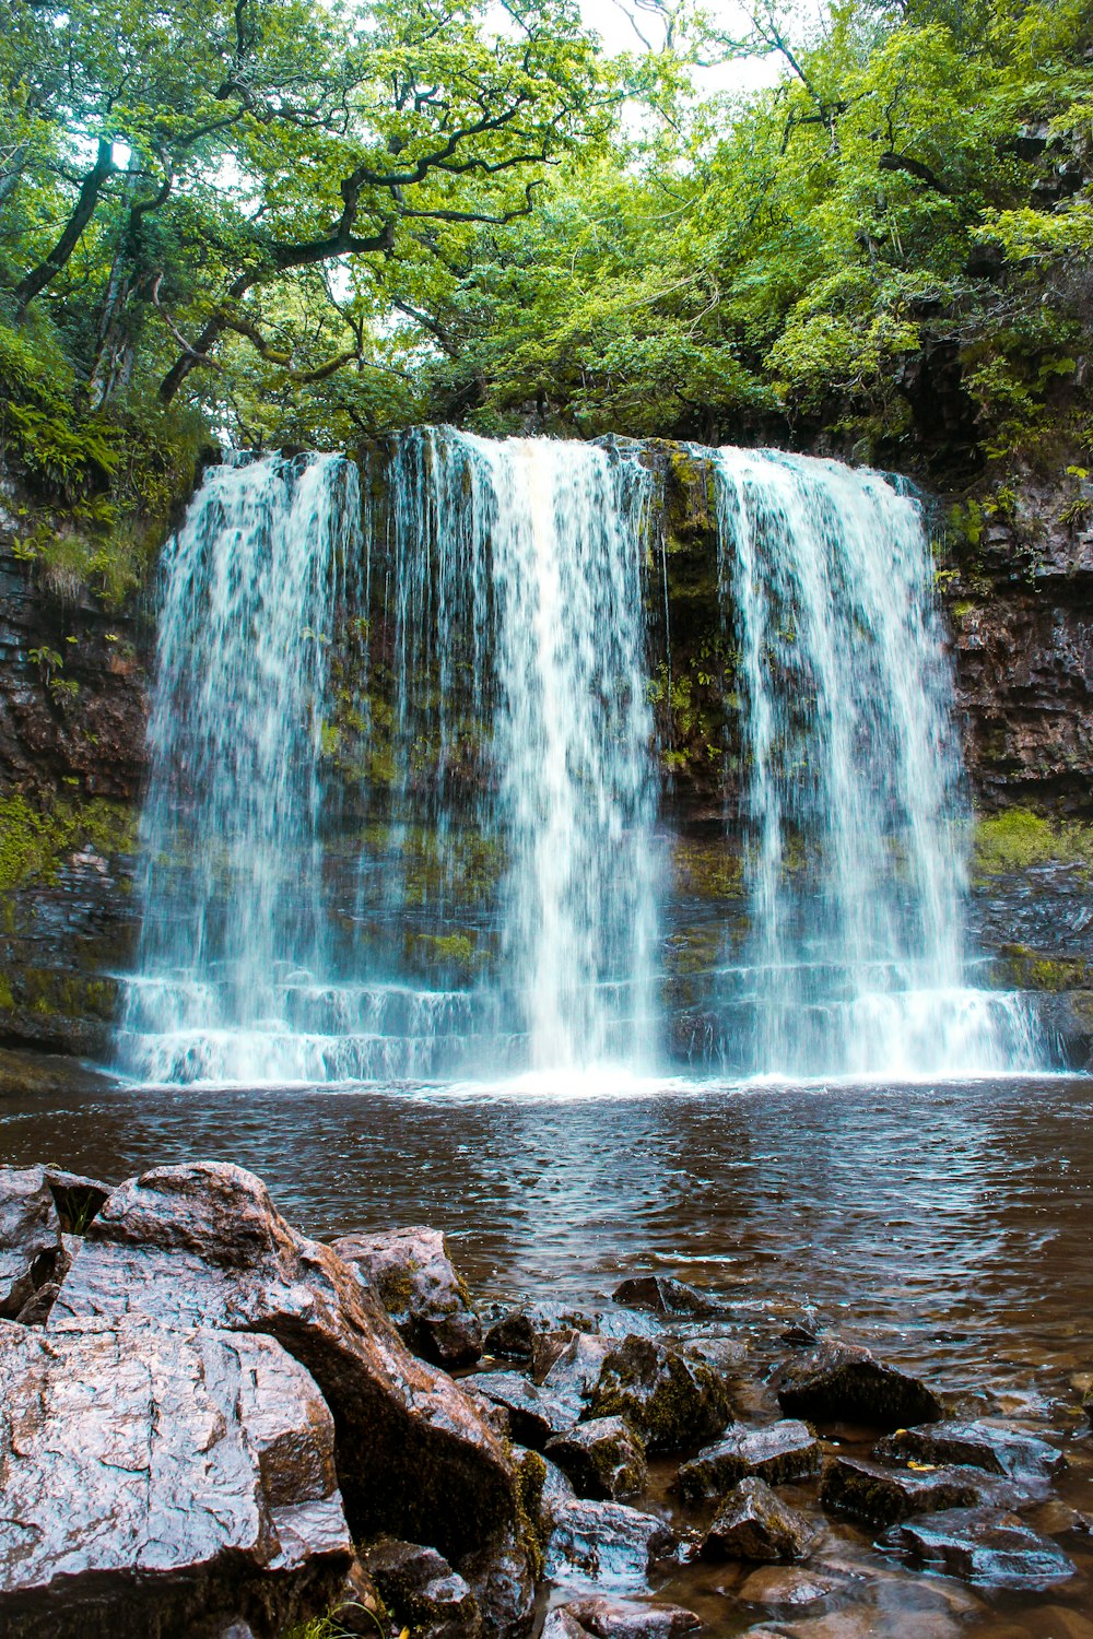
M641 1593L654 1560L675 1547L672 1528L659 1514L624 1503L557 1498L546 1546L551 1582L618 1593Z

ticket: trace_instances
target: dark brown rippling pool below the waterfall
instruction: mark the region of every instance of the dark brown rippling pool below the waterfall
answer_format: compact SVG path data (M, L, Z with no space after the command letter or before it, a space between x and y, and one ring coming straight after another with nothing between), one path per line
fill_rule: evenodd
M1047 1432L1070 1460L1059 1498L1093 1513L1093 1437L1077 1411L1093 1380L1091 1113L1093 1082L1078 1078L616 1096L88 1083L0 1093L0 1157L110 1178L234 1160L321 1237L446 1229L483 1298L592 1301L624 1272L665 1270L726 1293L757 1360L787 1306L810 1301L823 1324ZM1090 1537L1060 1541L1080 1577L1045 1595L903 1572L849 1526L818 1559L842 1565L852 1598L818 1616L726 1601L731 1569L680 1572L665 1591L714 1634L765 1616L801 1639L1093 1639Z

